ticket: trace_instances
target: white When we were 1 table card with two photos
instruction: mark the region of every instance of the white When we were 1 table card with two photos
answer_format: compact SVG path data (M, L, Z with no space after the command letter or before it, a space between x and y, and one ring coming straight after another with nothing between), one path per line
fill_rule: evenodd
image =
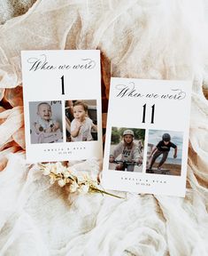
M102 158L100 51L22 51L27 162Z

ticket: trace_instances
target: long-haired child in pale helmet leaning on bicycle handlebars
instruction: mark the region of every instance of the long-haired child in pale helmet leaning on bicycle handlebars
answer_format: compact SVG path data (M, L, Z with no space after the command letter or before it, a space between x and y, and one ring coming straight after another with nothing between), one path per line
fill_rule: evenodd
M143 158L140 155L138 146L134 142L135 134L132 130L127 129L122 133L123 141L112 149L110 155L110 163L120 155L120 162L116 166L116 170L125 171L125 166L122 162L132 162L132 164L127 164L127 172L134 172L135 164L143 164Z

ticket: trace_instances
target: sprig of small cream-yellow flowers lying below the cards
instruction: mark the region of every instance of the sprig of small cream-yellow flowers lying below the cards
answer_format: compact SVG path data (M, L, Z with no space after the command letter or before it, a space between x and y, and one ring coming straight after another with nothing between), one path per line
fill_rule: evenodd
M92 177L88 172L74 172L70 167L64 166L60 162L39 164L42 174L50 177L50 184L58 183L60 187L68 186L70 193L80 192L86 194L88 192L97 192L123 198L113 195L99 188L96 177Z

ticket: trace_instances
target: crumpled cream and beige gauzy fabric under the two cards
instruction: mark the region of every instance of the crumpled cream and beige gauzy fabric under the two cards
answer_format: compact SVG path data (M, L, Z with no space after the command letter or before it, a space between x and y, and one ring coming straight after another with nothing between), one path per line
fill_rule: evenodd
M207 6L194 0L38 0L0 27L1 255L208 255ZM106 93L110 75L191 79L186 197L120 192L127 199L67 198L36 166L26 166L20 51L35 49L100 49ZM95 160L74 168L98 172Z

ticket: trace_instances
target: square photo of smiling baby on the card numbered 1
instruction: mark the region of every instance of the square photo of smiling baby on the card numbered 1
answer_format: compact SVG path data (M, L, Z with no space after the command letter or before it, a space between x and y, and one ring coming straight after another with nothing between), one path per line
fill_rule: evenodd
M31 144L63 142L61 101L29 102Z

